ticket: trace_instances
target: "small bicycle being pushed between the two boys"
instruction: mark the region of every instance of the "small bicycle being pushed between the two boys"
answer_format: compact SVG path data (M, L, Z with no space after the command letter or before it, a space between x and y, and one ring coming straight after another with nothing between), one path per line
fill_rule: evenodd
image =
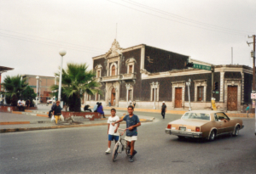
M115 161L118 154L122 154L122 151L125 150L125 153L127 156L130 154L130 148L127 145L127 141L124 138L121 138L122 135L124 135L126 129L119 128L118 130L123 130L124 132L119 132L119 141L115 143L115 146L113 148L113 154L112 154L112 160ZM125 140L125 145L122 143L122 140Z

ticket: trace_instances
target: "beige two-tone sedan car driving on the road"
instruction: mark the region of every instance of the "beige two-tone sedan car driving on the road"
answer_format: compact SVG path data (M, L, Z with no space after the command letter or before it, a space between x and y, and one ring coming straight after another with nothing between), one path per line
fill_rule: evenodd
M239 134L244 126L241 119L230 119L224 112L217 110L193 110L186 112L181 119L168 123L166 134L178 138L207 138L213 141L217 136Z

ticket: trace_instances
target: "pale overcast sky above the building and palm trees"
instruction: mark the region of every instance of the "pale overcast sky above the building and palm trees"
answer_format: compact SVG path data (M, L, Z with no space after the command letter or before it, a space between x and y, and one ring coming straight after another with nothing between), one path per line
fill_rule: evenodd
M255 0L1 0L0 66L5 76L54 76L67 63L146 44L213 65L253 66Z

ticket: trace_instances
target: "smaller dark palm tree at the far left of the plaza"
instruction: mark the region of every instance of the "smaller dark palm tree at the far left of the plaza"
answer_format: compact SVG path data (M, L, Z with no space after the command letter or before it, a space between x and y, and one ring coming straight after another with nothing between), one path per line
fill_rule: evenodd
M21 94L26 89L28 83L26 83L26 78L22 79L20 75L17 75L6 76L1 85L5 89L5 92L1 93L5 95L7 104L16 106L18 99L22 97Z

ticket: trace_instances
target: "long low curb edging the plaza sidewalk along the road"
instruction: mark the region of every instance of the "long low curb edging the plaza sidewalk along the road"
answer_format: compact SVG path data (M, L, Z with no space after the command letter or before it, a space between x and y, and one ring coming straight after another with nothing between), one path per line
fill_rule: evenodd
M153 121L153 119L145 120L143 119L141 122L149 122ZM125 122L121 122L120 124L126 124ZM45 127L27 127L27 128L14 128L14 129L0 129L0 133L6 132L25 132L25 131L37 131L37 130L46 130L46 129L59 129L59 128L72 128L72 127L84 127L84 126L104 126L108 125L108 123L96 123L89 125L68 125L68 126L45 126Z

